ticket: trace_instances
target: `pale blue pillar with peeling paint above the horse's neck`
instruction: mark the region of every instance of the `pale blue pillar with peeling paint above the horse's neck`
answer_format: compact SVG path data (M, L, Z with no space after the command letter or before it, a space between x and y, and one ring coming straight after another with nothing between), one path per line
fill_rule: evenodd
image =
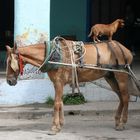
M14 37L19 45L50 39L50 0L15 0Z

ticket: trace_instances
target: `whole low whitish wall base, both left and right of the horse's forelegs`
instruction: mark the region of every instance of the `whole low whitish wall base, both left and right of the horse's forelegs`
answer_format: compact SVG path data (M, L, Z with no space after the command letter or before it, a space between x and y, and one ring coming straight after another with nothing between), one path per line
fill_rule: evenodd
M98 82L104 83L103 80L98 80ZM113 91L99 88L92 83L86 83L85 86L80 87L80 91L87 101L118 100L117 95ZM69 85L66 85L64 94L71 92ZM5 79L0 79L0 104L44 103L48 96L54 98L54 87L49 79L19 80L14 87L9 86Z

